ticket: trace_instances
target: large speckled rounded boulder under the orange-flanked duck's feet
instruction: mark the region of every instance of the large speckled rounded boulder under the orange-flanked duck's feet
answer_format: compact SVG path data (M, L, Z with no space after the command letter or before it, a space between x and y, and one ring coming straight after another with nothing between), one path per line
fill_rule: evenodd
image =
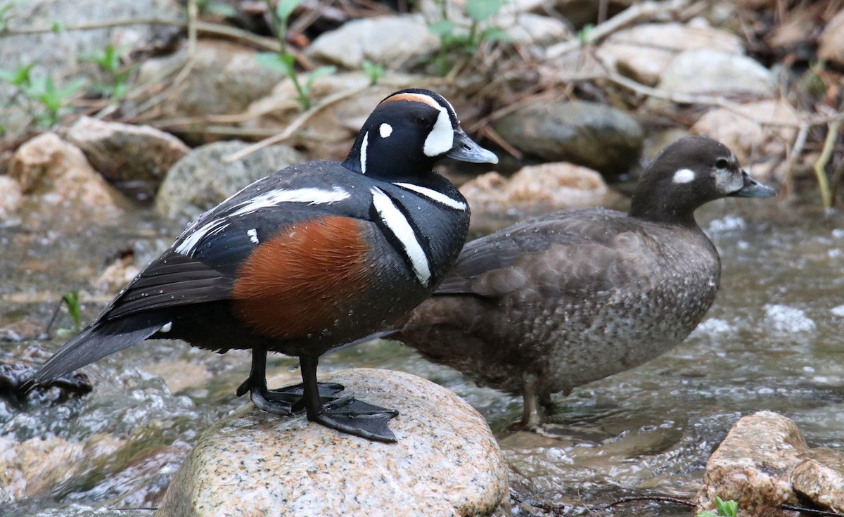
M408 373L354 369L321 380L398 409L381 444L246 405L197 441L156 517L489 515L506 466L483 417Z

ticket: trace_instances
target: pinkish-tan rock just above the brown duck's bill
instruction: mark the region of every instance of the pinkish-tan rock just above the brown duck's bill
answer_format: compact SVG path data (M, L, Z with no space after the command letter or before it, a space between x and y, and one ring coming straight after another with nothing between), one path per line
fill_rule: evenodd
M765 122L779 122L771 125ZM756 101L735 110L716 108L692 126L691 133L717 139L735 153L739 163L769 157L784 162L787 146L797 133L798 115L787 101Z

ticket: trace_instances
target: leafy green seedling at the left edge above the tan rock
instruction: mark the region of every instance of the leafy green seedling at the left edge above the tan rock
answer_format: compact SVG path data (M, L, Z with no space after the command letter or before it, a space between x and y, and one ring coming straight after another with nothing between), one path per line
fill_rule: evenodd
M33 65L20 65L14 70L0 68L0 81L13 85L28 102L35 125L50 127L62 117L68 98L82 88L83 79L76 79L63 88L57 88L52 75L33 78ZM37 106L36 106L37 103Z

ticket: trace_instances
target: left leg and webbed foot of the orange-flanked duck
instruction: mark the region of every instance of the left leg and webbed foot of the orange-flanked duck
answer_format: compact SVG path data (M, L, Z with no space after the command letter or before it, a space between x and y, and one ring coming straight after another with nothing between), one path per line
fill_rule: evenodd
M274 415L291 416L305 409L302 395L304 384L279 389L267 389L267 351L252 351L252 370L249 378L237 389L237 396L249 392L252 404L258 409ZM323 403L334 400L334 395L343 391L342 384L319 383L317 392Z

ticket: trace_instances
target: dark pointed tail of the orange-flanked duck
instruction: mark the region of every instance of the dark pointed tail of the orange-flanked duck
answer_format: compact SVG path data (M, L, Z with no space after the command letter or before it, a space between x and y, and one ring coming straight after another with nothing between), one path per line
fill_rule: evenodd
M97 322L73 337L57 351L32 377L35 383L46 383L73 372L116 351L133 346L158 332L163 324L121 318Z

